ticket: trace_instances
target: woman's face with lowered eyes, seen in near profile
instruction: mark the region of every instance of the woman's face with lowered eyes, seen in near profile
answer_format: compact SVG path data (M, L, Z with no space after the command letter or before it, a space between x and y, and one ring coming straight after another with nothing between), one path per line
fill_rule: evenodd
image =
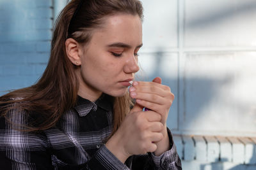
M124 96L129 81L139 71L138 50L142 26L138 15L106 17L103 27L93 31L90 42L80 48L79 95L97 99L102 92ZM89 97L88 97L89 96ZM93 100L93 99L92 99Z

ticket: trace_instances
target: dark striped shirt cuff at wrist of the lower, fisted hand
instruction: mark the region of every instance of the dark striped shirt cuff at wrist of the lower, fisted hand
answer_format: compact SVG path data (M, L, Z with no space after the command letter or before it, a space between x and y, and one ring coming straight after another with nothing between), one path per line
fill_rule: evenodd
M129 169L105 145L101 146L94 156L106 169Z

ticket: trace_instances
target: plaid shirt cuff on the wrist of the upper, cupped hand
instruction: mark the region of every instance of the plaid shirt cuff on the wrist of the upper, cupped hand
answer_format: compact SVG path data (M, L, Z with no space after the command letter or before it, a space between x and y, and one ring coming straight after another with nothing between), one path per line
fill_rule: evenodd
M170 140L170 150L162 153L159 156L156 156L154 153L150 154L152 156L152 159L156 167L163 167L163 168L173 167L175 166L175 164L179 164L180 162L176 146L173 143L172 133L170 129L167 128L167 132Z

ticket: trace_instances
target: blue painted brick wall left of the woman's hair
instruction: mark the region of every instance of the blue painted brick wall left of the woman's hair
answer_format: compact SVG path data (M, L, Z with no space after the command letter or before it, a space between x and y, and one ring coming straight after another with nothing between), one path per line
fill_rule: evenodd
M51 0L0 1L0 95L35 83L52 36Z

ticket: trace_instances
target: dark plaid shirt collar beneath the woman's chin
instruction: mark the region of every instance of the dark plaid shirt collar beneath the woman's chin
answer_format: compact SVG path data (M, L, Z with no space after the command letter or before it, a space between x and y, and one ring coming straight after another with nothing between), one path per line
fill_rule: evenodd
M113 108L113 99L114 97L108 96L107 94L102 94L102 96L100 96L99 99L93 103L88 99L77 96L77 105L74 109L78 112L80 117L88 115L90 111L97 111L98 107L106 111L111 111Z

